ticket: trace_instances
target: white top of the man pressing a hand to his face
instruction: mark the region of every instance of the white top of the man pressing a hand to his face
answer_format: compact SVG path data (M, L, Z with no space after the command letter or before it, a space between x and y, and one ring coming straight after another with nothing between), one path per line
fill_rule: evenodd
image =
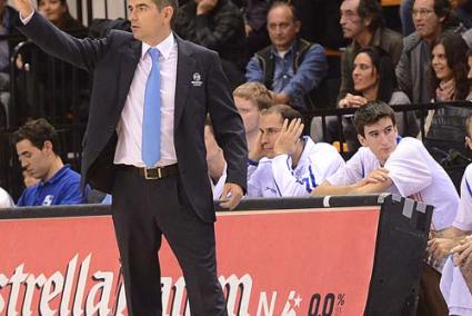
M338 150L303 137L304 147L295 168L288 155L262 158L248 168L248 197L309 196L324 179L344 166Z

